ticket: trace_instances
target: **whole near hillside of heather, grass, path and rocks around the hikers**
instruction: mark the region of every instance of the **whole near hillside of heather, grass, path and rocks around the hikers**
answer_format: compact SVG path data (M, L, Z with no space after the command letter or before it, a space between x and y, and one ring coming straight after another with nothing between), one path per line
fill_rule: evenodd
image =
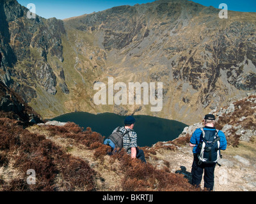
M236 99L214 112L228 141L221 167L216 166L215 191L256 189L255 101L256 95ZM0 126L0 191L199 190L189 184L193 154L188 142L201 123L185 128L173 141L140 147L147 164L124 151L108 156L99 133L74 123L46 122L24 129L17 120L1 118ZM233 128L243 131L240 140ZM244 141L246 135L250 139ZM28 170L35 170L35 184L28 184Z

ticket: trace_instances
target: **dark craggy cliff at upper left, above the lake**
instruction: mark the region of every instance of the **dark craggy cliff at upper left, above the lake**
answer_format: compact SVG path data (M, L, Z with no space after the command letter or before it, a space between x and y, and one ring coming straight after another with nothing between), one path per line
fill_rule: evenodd
M46 20L38 15L28 18L28 9L15 0L2 1L0 9L1 68L5 72L0 75L3 83L15 89L26 102L37 97L36 85L55 95L56 76L48 58L64 60L63 22L56 18Z

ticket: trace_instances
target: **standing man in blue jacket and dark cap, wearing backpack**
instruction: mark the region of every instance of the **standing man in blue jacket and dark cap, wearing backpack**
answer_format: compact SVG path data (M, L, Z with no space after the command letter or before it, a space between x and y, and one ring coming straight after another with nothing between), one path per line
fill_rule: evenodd
M205 127L196 129L189 143L194 154L192 184L199 187L204 173L204 187L209 191L214 187L214 169L221 157L220 150L227 148L225 135L214 128L215 123L214 115L205 115Z

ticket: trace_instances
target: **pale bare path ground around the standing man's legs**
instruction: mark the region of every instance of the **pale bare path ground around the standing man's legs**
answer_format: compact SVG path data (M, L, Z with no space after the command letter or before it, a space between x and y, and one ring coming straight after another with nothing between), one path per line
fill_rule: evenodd
M249 148L250 147L250 148ZM247 149L246 151L244 151ZM220 160L221 166L216 165L214 191L256 191L256 154L255 143L242 142L239 148L228 147L223 151L223 159ZM172 173L182 173L189 180L191 179L191 166L193 154L187 145L179 147L175 152L170 150L157 151L156 157L159 159L149 159L158 168L162 168L168 161L169 170ZM202 179L201 186L204 186Z

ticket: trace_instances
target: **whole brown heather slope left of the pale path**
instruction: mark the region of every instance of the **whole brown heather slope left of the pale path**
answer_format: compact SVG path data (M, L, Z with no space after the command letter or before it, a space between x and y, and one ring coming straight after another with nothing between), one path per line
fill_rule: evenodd
M65 126L33 126L23 129L15 120L0 119L0 190L1 191L104 191L111 187L102 179L103 171L113 178L113 191L196 191L183 175L158 170L150 163L131 159L124 150L108 156L104 137L91 128L72 122ZM33 129L33 131L32 131ZM33 133L32 133L33 132ZM70 149L54 141L68 141ZM72 156L80 148L92 157ZM159 147L160 148L160 147ZM157 149L141 148L146 157ZM113 164L113 165L111 165ZM168 161L165 161L168 166ZM28 185L26 171L36 172L36 184Z

